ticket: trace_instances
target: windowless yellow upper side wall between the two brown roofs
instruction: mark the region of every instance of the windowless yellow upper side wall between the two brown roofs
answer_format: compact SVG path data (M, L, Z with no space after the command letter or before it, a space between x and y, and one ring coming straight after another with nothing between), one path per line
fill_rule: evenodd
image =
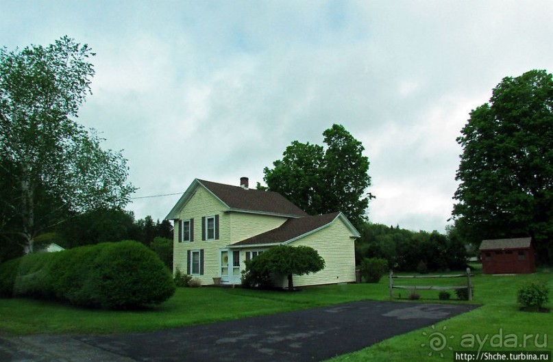
M230 213L230 240L232 243L240 242L248 237L276 229L286 220L288 219L279 216L232 212Z

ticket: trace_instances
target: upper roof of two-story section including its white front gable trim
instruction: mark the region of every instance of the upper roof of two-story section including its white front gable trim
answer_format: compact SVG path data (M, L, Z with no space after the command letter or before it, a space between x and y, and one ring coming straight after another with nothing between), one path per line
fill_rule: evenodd
M198 187L203 187L208 190L210 194L223 203L227 211L251 212L254 214L286 216L291 218L308 216L304 210L300 209L277 192L247 190L240 186L195 179L186 192L182 194L173 209L171 209L166 219L177 219L180 211L192 198L194 191Z

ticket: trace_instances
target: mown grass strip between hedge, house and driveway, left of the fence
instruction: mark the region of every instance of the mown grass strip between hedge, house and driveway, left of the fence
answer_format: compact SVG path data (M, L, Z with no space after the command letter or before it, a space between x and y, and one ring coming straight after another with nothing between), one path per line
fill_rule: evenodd
M0 299L0 333L27 335L156 331L373 297L383 299L386 295L383 284L308 287L294 293L241 288L177 288L173 298L144 311L90 310L44 300Z

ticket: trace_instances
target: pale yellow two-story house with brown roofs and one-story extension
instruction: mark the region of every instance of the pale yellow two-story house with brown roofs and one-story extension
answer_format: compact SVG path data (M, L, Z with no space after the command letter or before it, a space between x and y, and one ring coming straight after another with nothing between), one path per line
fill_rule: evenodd
M240 186L195 179L167 219L175 224L175 270L204 285L239 284L246 260L280 244L310 246L325 259L323 270L294 276L294 285L355 281L359 233L341 212L309 216L276 192L249 189L247 177Z

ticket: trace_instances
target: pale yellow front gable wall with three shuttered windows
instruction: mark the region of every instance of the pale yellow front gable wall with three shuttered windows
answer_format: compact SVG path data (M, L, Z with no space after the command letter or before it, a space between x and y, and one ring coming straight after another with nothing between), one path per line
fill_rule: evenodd
M180 219L194 219L194 241L179 242L178 227L175 227L173 240L173 269L186 273L188 250L204 250L204 274L194 275L201 283L213 284L213 276L219 276L219 249L230 244L230 216L224 212L225 205L203 187L198 187L195 194L180 211ZM201 240L201 218L219 215L219 240Z

